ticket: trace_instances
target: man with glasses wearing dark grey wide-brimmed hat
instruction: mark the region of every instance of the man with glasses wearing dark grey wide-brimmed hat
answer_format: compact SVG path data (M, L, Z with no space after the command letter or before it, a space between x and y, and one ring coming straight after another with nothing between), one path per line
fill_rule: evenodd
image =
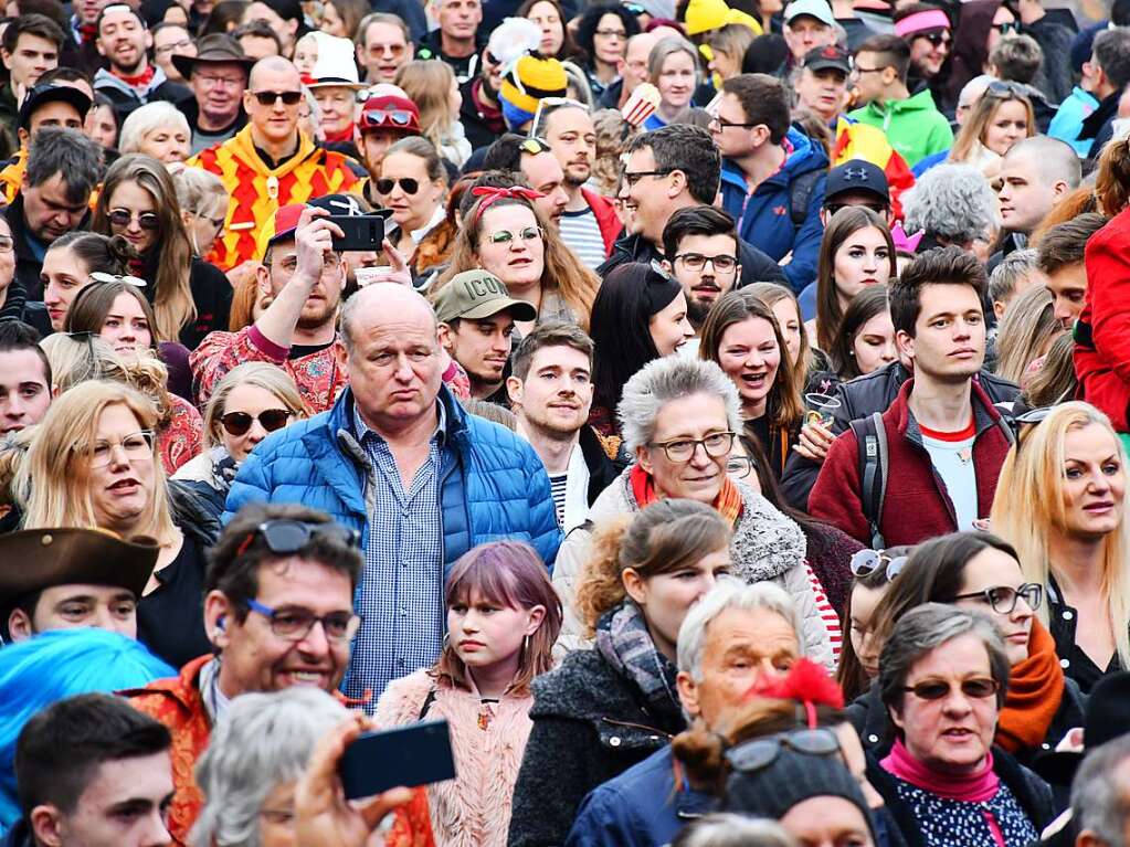
M192 130L191 150L195 156L223 143L247 122L243 91L254 62L227 35L206 35L193 55L173 55L169 63L188 80L192 96L177 104Z

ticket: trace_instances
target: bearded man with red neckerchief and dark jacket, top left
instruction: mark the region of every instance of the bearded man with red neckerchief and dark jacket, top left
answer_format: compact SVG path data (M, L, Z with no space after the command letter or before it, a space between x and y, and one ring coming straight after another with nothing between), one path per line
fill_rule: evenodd
M141 16L125 3L107 6L98 15L97 47L110 68L94 76L94 89L114 104L118 123L138 106L155 101L177 102L189 90L165 77L165 71L149 63L153 36Z

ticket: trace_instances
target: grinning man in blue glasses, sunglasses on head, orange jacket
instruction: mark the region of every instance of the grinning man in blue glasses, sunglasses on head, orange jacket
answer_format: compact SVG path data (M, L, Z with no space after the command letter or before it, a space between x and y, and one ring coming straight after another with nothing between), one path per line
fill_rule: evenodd
M306 506L254 504L211 550L205 630L215 653L177 676L122 692L173 735L180 759L168 830L177 844L203 805L194 763L233 698L312 686L337 693L360 619L353 608L362 557L356 533Z

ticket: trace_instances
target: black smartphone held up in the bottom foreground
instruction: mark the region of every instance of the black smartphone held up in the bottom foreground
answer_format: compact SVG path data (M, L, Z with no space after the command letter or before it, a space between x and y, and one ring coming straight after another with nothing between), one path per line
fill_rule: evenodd
M346 748L338 765L346 797L372 797L405 785L455 778L446 721L366 732Z

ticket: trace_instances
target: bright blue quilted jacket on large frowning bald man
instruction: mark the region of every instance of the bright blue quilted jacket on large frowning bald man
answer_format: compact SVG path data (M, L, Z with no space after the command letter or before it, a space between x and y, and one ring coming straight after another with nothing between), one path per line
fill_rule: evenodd
M532 544L551 570L562 533L541 460L505 427L468 414L446 387L440 401L447 419L440 469L444 578L472 547L501 539ZM359 530L364 549L371 471L354 440L353 407L346 390L328 412L263 439L232 483L225 523L245 503L301 503Z

